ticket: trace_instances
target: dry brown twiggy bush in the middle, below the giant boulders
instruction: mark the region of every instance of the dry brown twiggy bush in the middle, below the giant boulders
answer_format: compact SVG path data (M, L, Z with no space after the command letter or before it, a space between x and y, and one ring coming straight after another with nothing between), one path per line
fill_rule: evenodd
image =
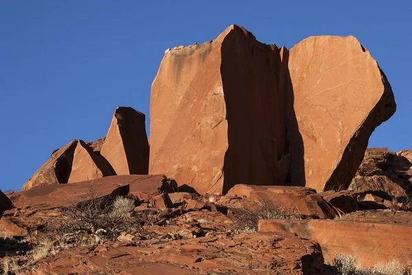
M299 219L296 206L284 206L271 199L245 201L243 208L233 208L231 218L234 221L232 230L239 232L256 232L260 219Z

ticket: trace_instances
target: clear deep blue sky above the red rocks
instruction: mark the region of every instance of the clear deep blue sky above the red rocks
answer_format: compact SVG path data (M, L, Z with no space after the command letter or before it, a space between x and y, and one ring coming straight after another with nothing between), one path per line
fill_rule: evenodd
M387 74L398 110L369 140L412 148L411 1L0 1L0 188L19 190L73 139L106 135L117 106L146 114L168 47L232 23L290 48L356 36Z

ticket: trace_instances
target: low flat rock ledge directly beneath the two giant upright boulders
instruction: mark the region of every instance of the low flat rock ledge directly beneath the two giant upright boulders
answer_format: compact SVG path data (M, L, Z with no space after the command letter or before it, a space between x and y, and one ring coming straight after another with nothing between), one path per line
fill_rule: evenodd
M262 201L270 199L284 214L317 219L334 219L339 213L311 188L297 186L252 186L237 184L227 196L244 196Z

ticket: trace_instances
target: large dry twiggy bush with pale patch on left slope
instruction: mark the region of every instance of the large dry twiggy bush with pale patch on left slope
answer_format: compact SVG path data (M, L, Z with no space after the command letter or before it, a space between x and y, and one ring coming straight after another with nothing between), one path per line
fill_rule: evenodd
M89 245L115 241L122 233L141 231L141 219L133 208L135 201L124 197L101 197L90 188L80 203L62 208L62 219L54 228L60 243Z

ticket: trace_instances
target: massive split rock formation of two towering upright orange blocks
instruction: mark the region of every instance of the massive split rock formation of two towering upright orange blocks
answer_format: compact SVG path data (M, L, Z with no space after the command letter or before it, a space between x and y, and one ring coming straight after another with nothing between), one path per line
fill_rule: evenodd
M395 109L353 36L313 36L288 52L231 25L165 52L150 100L150 173L200 193L240 182L347 188Z

